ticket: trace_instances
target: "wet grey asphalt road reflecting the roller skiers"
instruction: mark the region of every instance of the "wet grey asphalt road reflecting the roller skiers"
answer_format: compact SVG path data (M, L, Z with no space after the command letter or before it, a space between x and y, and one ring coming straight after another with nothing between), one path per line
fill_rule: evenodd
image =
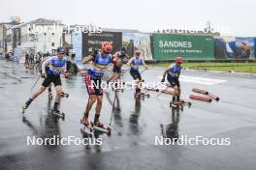
M160 81L162 69L144 71L145 81ZM87 101L80 76L62 79L63 89L70 94L62 99L65 121L55 121L45 93L21 116L21 105L29 98L30 88L39 76L22 65L0 61L0 170L14 169L233 169L254 170L256 167L256 76L230 75L201 71L183 71L183 75L227 80L216 85L181 82L183 99L201 87L218 94L220 101L211 103L192 100L192 107L177 112L169 107L171 96L149 92L142 101L133 91L118 93L120 111L114 112L112 136L102 134L101 146L27 146L26 137L69 135L81 138L80 117ZM128 73L125 80L130 80ZM42 83L43 79L37 85ZM38 86L37 86L38 87ZM36 89L36 88L35 88ZM34 90L35 90L34 89ZM102 122L109 124L114 94L104 97ZM188 99L189 100L189 99ZM94 113L94 109L92 109ZM93 114L90 115L93 119ZM197 135L206 138L230 138L230 146L155 146L155 136Z

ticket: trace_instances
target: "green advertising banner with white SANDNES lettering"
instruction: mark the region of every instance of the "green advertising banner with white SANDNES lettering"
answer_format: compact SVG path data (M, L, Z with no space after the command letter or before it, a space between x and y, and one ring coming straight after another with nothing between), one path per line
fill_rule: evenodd
M155 34L154 58L170 60L182 56L186 60L214 59L211 36Z

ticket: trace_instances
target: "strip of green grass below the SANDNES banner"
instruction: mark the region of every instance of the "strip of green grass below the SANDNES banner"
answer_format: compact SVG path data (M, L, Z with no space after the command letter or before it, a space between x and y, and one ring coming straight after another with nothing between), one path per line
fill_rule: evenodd
M171 63L153 64L154 67L167 68ZM183 63L183 68L206 71L237 71L256 73L256 63Z

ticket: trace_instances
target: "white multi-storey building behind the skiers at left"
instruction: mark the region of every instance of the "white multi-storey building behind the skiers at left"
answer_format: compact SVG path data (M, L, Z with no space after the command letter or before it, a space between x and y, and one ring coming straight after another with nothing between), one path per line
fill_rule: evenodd
M38 18L22 23L15 28L20 30L20 44L16 50L25 53L54 53L58 46L63 45L63 24L59 20Z

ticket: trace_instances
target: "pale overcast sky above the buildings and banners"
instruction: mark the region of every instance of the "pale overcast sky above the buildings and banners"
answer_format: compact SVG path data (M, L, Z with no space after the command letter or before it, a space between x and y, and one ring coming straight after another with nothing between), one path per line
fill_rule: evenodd
M161 27L202 30L209 20L225 35L256 37L255 0L0 0L0 4L0 22L15 15L22 21L45 17L65 24L152 32Z

